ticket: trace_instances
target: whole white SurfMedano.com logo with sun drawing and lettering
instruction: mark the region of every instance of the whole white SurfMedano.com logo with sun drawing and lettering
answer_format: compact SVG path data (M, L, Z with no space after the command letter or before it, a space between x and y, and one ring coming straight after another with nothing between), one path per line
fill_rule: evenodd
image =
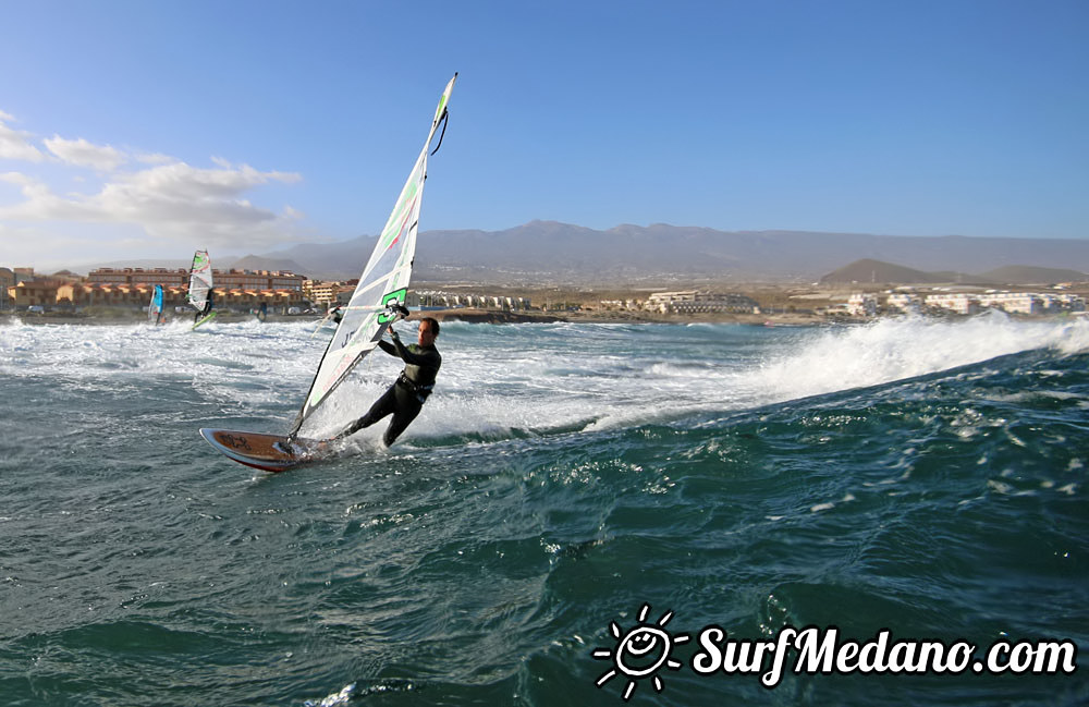
M609 631L616 639L612 648L596 648L597 660L612 666L595 683L599 688L614 678L627 682L621 697L628 702L640 681L649 681L657 692L664 683L661 670L681 670L673 659L673 646L687 643L688 634L671 634L665 624L673 618L666 611L651 623L650 605L639 609L639 620L627 631L615 621ZM965 639L894 641L889 629L878 631L868 641L858 642L840 634L830 625L820 629L783 626L775 635L751 641L734 638L721 626L711 624L696 634L698 649L689 667L698 675L751 675L760 684L775 688L788 672L794 674L922 674L959 675L966 672L990 674L1072 674L1077 671L1078 647L1073 641L1020 641L1000 638L981 655L978 646ZM793 657L793 659L792 659Z

